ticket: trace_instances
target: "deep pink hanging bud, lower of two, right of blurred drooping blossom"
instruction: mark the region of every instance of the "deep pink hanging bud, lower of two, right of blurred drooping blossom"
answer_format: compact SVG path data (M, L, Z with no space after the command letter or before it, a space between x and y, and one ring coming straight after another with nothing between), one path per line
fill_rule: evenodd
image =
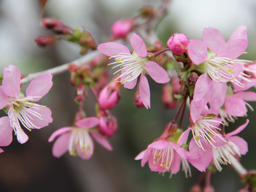
M117 121L109 111L100 110L98 132L105 137L112 137L117 130Z

